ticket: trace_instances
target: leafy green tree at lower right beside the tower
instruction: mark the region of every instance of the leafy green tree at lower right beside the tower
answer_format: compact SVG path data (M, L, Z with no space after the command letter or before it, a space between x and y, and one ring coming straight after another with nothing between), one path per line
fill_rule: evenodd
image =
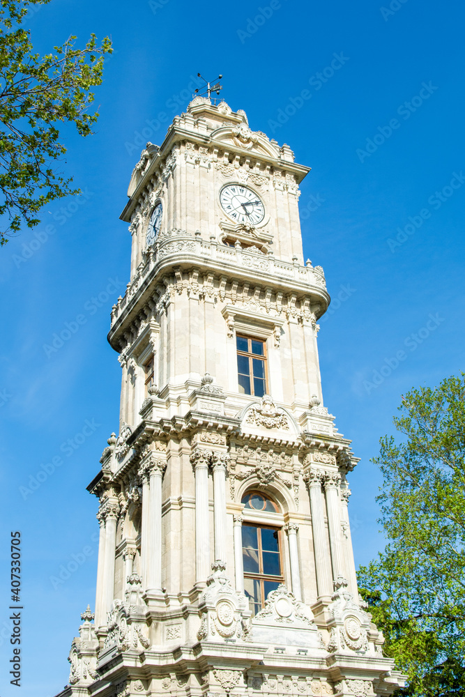
M397 695L465 694L465 373L411 390L381 438L388 545L359 571L360 592L409 676Z

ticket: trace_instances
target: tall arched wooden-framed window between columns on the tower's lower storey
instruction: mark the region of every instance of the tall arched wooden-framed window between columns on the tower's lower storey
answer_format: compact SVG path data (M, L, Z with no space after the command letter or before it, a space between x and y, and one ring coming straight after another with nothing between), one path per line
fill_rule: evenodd
M265 604L268 593L283 583L281 528L266 523L247 521L247 511L277 513L277 507L260 491L249 491L243 496L242 553L244 590L249 598L252 615ZM254 518L256 516L253 516Z

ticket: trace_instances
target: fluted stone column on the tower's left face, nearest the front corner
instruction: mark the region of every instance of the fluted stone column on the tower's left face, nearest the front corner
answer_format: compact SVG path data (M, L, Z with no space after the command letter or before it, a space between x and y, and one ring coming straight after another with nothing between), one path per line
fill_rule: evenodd
M167 464L154 459L148 463L150 484L148 495L146 586L148 597L162 597L162 478Z

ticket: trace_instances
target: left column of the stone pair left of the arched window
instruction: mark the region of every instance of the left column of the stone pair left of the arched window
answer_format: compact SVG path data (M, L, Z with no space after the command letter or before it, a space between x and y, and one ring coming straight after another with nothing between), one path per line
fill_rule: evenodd
M208 523L209 454L197 450L190 456L195 472L195 580L203 586L210 573L210 526Z

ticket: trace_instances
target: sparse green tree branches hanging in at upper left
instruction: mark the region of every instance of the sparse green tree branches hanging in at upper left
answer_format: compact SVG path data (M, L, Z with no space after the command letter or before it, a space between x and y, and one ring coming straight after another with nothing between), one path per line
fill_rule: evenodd
M84 49L75 36L45 56L33 52L30 32L21 24L33 6L49 0L0 1L0 245L23 224L40 222L49 201L77 194L72 178L63 178L56 160L66 153L58 123L74 123L80 135L92 132L98 112L89 111L94 86L102 82L105 54L112 43Z

